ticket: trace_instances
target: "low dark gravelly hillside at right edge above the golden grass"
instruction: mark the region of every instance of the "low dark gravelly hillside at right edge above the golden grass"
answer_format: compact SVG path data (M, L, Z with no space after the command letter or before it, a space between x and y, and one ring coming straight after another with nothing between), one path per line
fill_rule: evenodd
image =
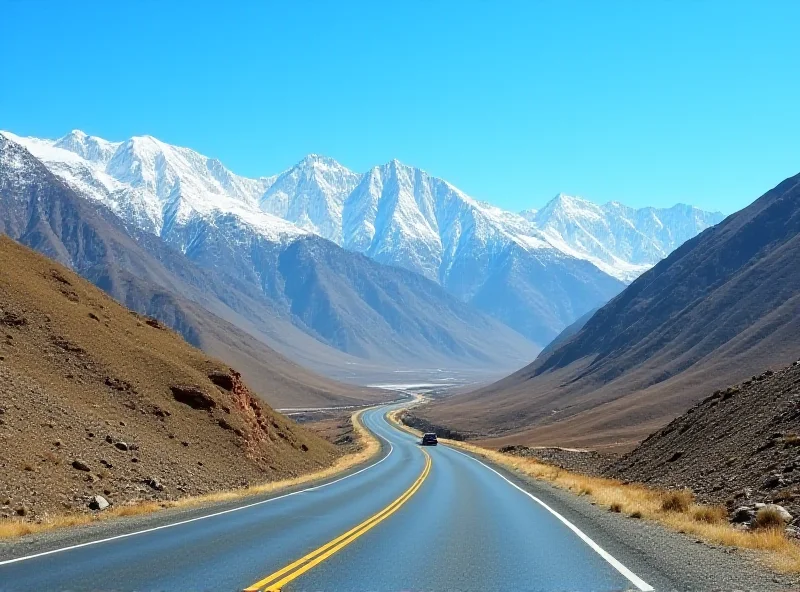
M714 391L605 472L800 516L800 362Z

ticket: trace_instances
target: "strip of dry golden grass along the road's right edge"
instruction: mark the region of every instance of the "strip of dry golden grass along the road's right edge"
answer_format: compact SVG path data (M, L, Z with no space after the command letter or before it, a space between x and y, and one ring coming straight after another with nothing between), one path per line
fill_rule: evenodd
M400 422L400 413L402 410L390 413L389 421L406 432L421 435L418 430ZM581 475L533 458L503 454L466 442L444 439L440 439L440 442L481 456L507 469L547 481L561 489L586 495L598 506L609 511L620 512L632 518L653 520L707 543L760 551L774 569L785 573L800 572L800 545L788 539L782 528L774 527L774 517L764 517L765 524L769 523L773 527L752 531L738 530L728 523L725 508L694 503L694 496L688 490L666 491L638 483Z

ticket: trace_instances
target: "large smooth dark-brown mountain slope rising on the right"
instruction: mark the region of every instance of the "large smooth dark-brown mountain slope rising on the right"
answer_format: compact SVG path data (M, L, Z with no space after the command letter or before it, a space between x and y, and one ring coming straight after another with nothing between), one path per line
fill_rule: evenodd
M630 446L800 351L800 175L687 241L533 364L423 418L498 442Z

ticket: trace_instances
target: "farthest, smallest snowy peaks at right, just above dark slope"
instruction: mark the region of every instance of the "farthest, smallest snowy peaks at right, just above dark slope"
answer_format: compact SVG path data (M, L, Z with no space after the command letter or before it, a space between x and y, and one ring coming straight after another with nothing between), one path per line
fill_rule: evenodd
M724 217L684 204L634 209L615 201L597 205L563 193L522 216L551 245L624 281L636 279Z

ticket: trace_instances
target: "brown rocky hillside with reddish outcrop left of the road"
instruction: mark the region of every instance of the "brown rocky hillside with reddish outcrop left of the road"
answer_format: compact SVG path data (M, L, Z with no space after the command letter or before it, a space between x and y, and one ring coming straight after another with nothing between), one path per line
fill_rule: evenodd
M0 515L236 488L336 455L161 322L0 237Z

